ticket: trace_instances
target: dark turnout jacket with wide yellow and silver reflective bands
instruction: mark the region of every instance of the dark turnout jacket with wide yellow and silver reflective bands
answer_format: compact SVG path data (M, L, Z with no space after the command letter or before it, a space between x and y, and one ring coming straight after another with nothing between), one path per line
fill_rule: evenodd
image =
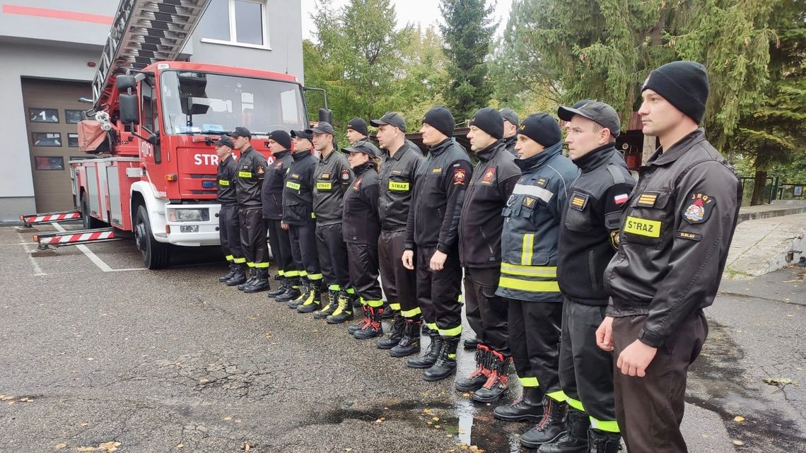
M496 294L521 301L563 300L557 283L557 240L567 192L579 170L558 142L528 159L506 207L501 281Z

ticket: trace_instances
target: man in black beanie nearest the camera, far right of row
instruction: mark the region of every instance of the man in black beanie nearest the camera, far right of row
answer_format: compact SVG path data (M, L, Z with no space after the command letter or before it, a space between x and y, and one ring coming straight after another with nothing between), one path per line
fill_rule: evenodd
M617 357L616 418L633 453L688 451L680 422L688 367L708 323L736 228L742 186L698 128L708 101L702 64L675 61L642 86L643 133L660 148L625 203L611 299L596 343Z

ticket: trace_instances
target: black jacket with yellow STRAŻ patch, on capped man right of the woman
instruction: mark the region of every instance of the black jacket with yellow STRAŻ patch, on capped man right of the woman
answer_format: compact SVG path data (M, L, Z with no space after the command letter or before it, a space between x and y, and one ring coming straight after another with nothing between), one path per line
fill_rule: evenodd
M380 167L378 211L384 231L404 231L409 220L412 184L417 168L426 159L420 148L406 140L394 156L386 153Z

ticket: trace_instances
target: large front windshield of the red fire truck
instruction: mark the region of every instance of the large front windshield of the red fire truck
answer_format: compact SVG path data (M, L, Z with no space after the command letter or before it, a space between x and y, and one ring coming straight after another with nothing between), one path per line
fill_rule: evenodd
M290 82L165 71L160 85L166 134L305 129L299 85Z

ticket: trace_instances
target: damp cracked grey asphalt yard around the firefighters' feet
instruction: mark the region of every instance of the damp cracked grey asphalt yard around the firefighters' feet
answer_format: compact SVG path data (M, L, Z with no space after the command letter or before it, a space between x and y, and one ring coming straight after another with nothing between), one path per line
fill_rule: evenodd
M525 451L531 426L453 379L219 284L217 250L147 271L132 241L90 245L103 272L77 247L34 249L0 227L0 452ZM804 274L722 285L689 374L690 451L806 451ZM459 351L459 374L472 368Z

